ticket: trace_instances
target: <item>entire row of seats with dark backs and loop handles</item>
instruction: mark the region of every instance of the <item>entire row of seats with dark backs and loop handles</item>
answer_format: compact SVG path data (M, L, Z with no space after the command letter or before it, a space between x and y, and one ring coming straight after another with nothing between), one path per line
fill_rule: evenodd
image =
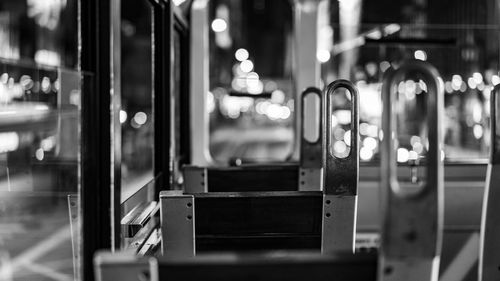
M398 182L397 85L415 73L427 86L426 177ZM339 80L324 92L308 89L303 94L321 97L322 132L314 143L302 138L300 164L186 167L185 189L160 194L162 255L100 253L97 279L438 280L444 215L443 84L438 71L423 61L388 71L384 81L380 185L384 208L378 253L354 251L359 96L352 83ZM327 149L333 142L329 117L339 88L349 91L352 105L351 150L345 158ZM493 97L492 116L496 116L494 101ZM495 132L492 126L496 141ZM494 164L500 159L496 145L493 151L490 185L500 175L495 173ZM483 281L500 280L500 251L484 250L498 246L500 240L494 209L500 198L494 198L499 195L491 187L485 196L480 271Z

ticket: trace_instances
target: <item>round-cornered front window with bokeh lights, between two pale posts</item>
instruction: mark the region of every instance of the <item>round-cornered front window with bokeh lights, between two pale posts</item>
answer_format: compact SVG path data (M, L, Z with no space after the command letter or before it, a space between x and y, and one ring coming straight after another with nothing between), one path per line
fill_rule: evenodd
M285 160L293 145L291 2L210 3L210 152L223 164Z

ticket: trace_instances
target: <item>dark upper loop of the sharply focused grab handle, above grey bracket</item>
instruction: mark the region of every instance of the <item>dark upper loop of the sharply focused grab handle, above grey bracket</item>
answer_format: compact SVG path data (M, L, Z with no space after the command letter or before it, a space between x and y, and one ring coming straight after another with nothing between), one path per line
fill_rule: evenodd
M332 138L330 130L332 128L331 102L335 91L340 88L347 89L351 94L351 151L346 158L336 158L330 153ZM324 171L324 192L328 195L355 196L358 194L358 171L359 171L359 93L354 84L347 80L337 80L328 85L325 102L323 105L325 112L325 125L323 128L323 167Z

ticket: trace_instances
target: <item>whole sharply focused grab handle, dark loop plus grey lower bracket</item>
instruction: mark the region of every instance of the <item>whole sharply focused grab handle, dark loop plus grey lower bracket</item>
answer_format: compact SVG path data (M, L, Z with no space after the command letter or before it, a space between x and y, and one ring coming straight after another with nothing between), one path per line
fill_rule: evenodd
M345 88L351 94L351 151L346 158L336 158L332 146L332 97ZM358 89L347 80L328 85L323 104L323 221L321 251L354 252L359 177L359 96Z

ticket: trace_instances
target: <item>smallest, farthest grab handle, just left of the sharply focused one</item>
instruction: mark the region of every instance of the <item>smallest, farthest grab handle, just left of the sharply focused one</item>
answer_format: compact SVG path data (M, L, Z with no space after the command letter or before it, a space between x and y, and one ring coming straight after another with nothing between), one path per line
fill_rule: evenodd
M315 124L318 130L318 138L315 142L309 142L305 137L305 100L309 95L316 95L319 99L319 108L317 112L313 114L319 115L319 124ZM323 148L323 92L316 87L309 87L302 92L302 112L300 126L302 128L302 134L300 138L300 167L301 168L321 168L321 157Z

